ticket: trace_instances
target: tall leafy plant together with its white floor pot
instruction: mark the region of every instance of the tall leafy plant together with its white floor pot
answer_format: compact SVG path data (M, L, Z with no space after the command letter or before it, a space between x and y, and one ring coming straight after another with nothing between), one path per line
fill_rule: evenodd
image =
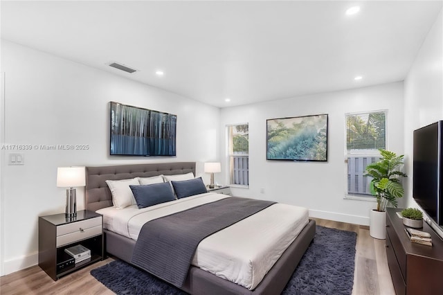
M397 208L397 199L404 195L400 178L407 175L400 171L404 155L397 156L395 152L388 150L379 150L379 152L381 158L366 166L365 176L372 177L370 190L377 199L377 209L370 211L370 235L373 238L384 239L386 206Z

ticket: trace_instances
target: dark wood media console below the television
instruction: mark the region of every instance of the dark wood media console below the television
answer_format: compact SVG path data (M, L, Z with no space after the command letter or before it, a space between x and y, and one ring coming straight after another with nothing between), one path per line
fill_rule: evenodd
M433 246L410 242L404 229L406 226L396 212L386 210L386 256L395 293L399 294L443 294L443 241L424 222L423 229L431 233Z

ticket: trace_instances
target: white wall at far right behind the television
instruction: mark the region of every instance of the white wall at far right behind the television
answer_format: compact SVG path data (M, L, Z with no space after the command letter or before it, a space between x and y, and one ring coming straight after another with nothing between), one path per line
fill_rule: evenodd
M443 120L443 10L428 35L404 80L404 146L413 154L413 131ZM413 159L406 163L408 175L413 174ZM406 179L407 206L418 207L413 200L412 177Z

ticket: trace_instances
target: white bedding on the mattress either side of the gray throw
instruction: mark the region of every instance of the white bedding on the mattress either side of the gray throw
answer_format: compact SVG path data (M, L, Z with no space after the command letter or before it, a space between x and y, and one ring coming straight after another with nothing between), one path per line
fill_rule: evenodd
M228 196L205 193L143 209L102 208L105 229L137 240L145 222L224 199ZM306 208L273 204L268 208L202 240L192 265L254 289L285 249L308 224Z

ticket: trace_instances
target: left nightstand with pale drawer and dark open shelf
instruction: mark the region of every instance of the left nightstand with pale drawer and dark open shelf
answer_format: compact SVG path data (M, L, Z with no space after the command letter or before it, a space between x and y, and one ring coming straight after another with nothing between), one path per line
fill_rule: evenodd
M91 259L75 263L64 249L81 244L91 250ZM39 217L39 267L57 280L93 262L102 260L103 217L93 211L77 211Z

